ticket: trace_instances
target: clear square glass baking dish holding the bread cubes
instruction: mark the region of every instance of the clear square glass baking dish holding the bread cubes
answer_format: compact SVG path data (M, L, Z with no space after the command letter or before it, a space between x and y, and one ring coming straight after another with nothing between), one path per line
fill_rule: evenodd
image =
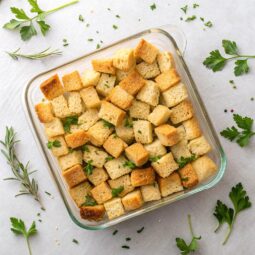
M195 114L200 123L201 129L203 130L204 136L212 147L212 151L209 153L209 156L216 163L218 170L215 176L213 176L207 182L201 183L190 190L184 190L180 193L162 198L161 200L146 203L142 208L126 213L125 215L113 220L108 220L105 218L100 222L90 222L80 217L79 209L69 195L68 187L61 175L61 169L58 165L58 162L52 153L47 149L47 138L44 134L43 125L39 122L34 110L34 105L40 102L43 97L39 85L42 81L46 80L55 73L58 73L60 76L62 76L65 73L71 72L73 70L83 71L85 68L91 68L90 63L92 59L109 57L119 48L134 47L141 38L148 40L160 50L170 51L173 54L176 63L176 69L179 72L182 81L187 86L188 94L195 109ZM119 222L160 208L164 205L171 204L177 200L187 198L188 196L196 194L200 191L209 189L216 185L222 178L226 168L226 156L220 145L219 139L213 128L210 118L206 112L204 103L200 98L197 87L183 59L185 45L186 41L183 34L175 26L167 25L159 28L148 29L115 42L107 47L86 54L78 59L72 60L71 62L65 63L54 69L43 72L34 77L25 87L23 94L23 106L32 133L42 153L42 156L48 164L48 168L54 178L55 183L57 184L58 190L66 205L70 217L80 227L89 230L107 228Z

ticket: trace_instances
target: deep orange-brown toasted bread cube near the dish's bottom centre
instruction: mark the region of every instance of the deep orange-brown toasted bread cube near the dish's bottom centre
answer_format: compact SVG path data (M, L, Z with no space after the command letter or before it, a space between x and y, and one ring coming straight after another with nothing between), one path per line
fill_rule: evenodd
M152 167L135 169L131 172L131 183L134 187L152 184L155 182L155 171Z

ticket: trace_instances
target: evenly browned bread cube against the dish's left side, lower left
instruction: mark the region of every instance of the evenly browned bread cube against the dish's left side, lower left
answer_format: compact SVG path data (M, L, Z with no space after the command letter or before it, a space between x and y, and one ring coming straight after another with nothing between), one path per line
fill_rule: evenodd
M63 177L65 178L69 188L72 188L81 182L87 180L87 177L83 171L81 165L74 165L71 168L68 168L66 171L63 172Z

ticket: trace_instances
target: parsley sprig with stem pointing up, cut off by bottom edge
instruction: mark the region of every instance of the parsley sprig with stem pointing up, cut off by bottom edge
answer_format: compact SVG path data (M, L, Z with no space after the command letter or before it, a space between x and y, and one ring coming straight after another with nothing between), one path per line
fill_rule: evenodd
M188 215L188 223L189 223L189 229L190 233L192 235L192 240L189 244L185 242L184 239L177 237L176 240L176 246L180 249L182 255L188 255L191 252L198 251L199 249L199 244L198 240L201 239L201 236L197 237L195 236L192 228L192 223L191 223L191 216Z

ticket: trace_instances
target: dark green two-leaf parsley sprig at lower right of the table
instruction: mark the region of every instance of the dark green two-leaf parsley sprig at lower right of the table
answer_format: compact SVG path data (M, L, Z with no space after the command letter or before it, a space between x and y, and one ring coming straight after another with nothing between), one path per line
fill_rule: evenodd
M238 183L236 186L232 187L229 193L229 198L234 206L234 209L227 207L220 200L218 200L213 214L218 220L218 227L215 229L215 232L217 232L224 223L228 224L228 233L225 237L223 245L227 243L233 231L233 226L237 215L241 211L251 207L249 197L246 195L246 191L243 189L243 185L241 183Z

